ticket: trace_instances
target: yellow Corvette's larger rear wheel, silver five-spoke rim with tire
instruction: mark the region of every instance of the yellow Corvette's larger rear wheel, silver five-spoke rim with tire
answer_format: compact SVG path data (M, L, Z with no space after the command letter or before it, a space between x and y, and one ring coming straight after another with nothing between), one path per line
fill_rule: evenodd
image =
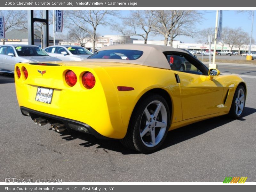
M135 107L124 139L125 147L152 153L162 145L170 125L166 100L157 94L141 100Z

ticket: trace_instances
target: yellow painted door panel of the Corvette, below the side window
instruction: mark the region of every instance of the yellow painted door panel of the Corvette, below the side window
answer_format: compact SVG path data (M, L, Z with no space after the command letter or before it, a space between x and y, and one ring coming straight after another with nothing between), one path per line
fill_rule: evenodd
M177 71L183 120L219 113L223 86L219 77Z

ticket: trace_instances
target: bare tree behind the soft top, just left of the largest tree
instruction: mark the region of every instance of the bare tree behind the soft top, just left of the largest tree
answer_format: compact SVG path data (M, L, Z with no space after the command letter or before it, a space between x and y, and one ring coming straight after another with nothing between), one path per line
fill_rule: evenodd
M131 14L123 20L122 25L115 25L114 28L123 35L141 36L144 44L147 44L148 34L155 31L153 28L156 25L156 17L152 11L131 11Z

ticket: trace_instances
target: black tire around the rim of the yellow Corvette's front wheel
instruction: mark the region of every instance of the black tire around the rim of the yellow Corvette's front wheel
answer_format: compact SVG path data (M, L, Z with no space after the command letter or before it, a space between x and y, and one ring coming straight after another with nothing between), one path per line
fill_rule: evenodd
M236 113L236 99L237 99L237 95L238 95L238 91L239 90L242 90L244 92L244 102L243 102L243 109L241 111L241 114L237 114ZM231 104L231 107L230 107L230 110L229 110L229 113L228 115L233 118L233 119L237 119L239 117L241 117L243 115L243 112L244 112L244 107L245 107L245 100L246 100L246 92L244 90L244 86L242 85L238 85L238 87L236 88L236 91L235 91L235 94L234 94L234 97L233 97L233 100L232 100L232 104ZM241 102L240 102L241 103Z

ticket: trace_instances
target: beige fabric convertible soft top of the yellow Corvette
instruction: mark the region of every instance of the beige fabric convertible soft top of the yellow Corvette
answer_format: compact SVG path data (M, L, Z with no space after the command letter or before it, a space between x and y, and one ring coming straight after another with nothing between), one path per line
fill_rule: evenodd
M137 51L143 51L143 54L140 58L138 58L136 60L88 59L88 61L108 61L108 62L118 62L118 63L131 63L131 64L144 65L144 66L149 66L149 67L171 69L163 52L175 51L175 52L187 53L183 50L175 49L171 46L152 45L152 44L111 45L111 46L107 46L107 47L102 47L99 51L112 50L112 49L137 50Z

